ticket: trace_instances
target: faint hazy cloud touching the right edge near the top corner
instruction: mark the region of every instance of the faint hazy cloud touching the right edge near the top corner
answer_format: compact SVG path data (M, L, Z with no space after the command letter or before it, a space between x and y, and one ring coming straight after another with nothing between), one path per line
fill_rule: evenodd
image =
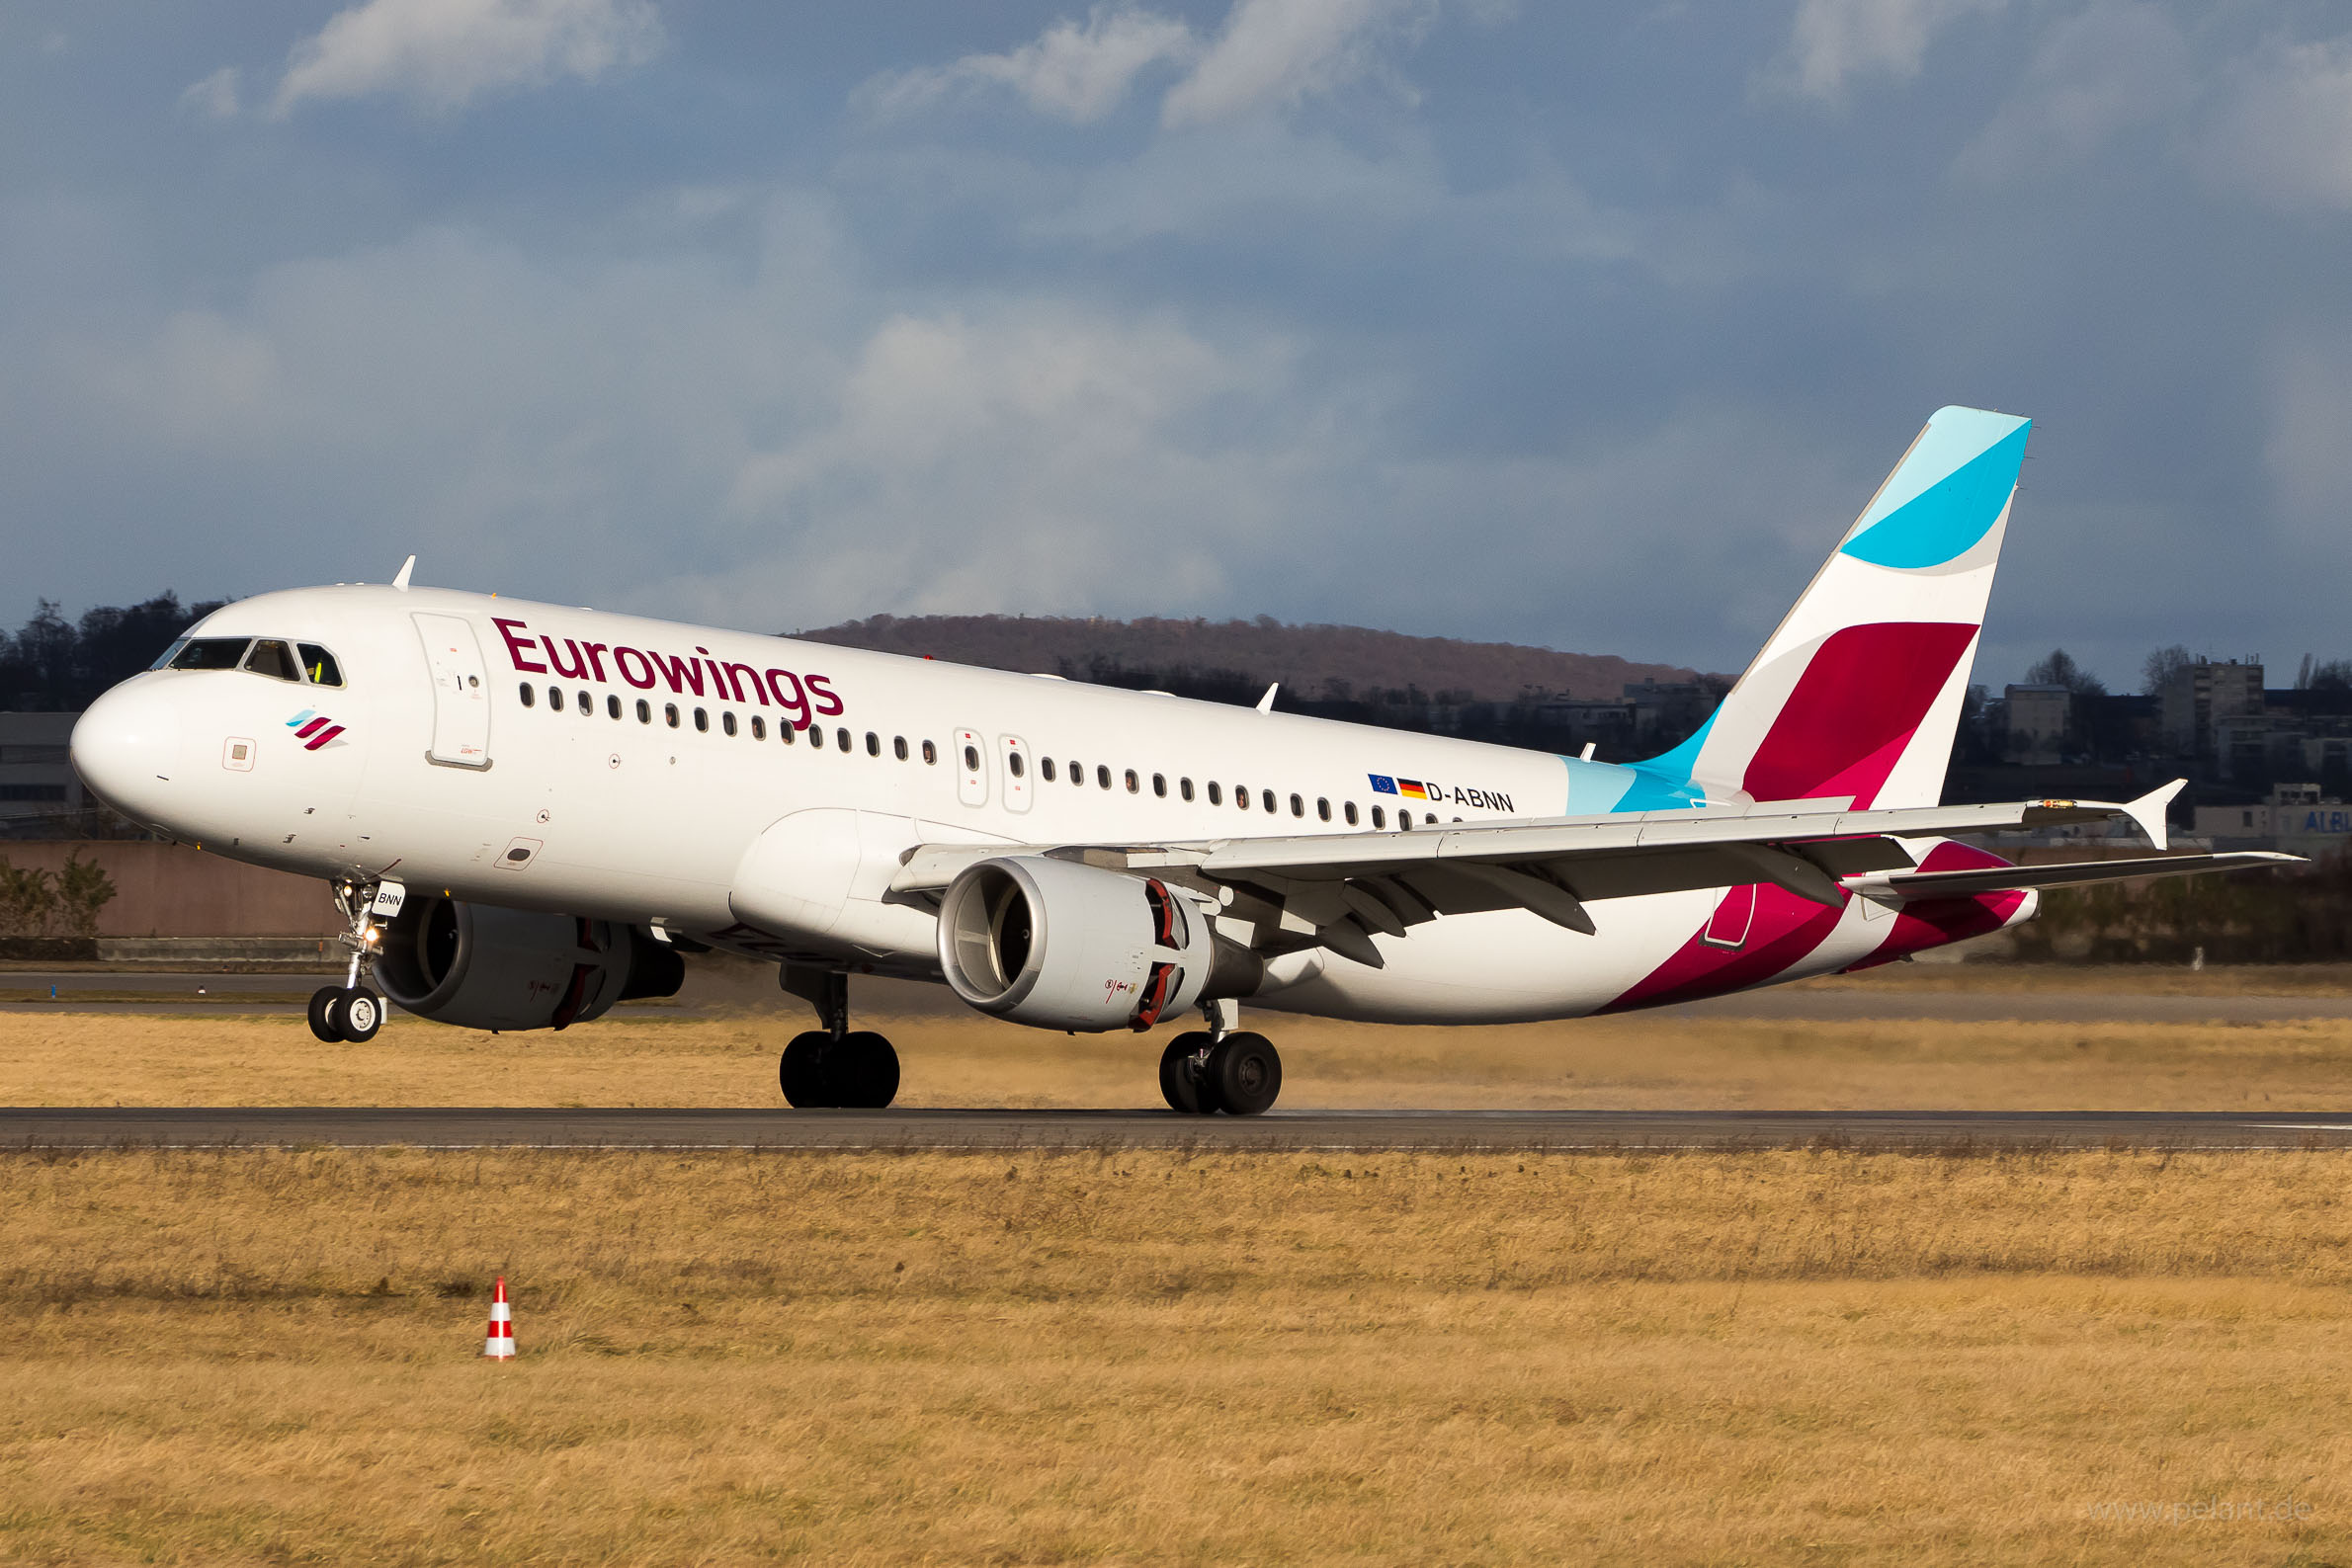
M2267 207L2352 209L2352 38L2241 66L2199 162L2225 193Z

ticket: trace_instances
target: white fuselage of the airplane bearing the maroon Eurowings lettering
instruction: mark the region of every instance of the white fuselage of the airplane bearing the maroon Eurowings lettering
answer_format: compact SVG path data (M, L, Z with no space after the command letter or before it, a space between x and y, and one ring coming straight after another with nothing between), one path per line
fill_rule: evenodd
M917 844L1397 832L1399 818L1421 832L1698 804L1545 752L452 590L273 592L191 632L247 635L329 649L343 684L134 677L75 731L103 799L256 865L915 978L938 978L936 919L887 882ZM315 719L339 733L318 743ZM1519 910L1442 917L1376 938L1385 969L1275 959L1254 1004L1590 1013L1672 961L1717 898L1609 900L1597 936ZM1886 947L1889 919L1865 900L1816 910L1778 954L1759 931L1757 952L1724 954L1715 990L1856 964Z

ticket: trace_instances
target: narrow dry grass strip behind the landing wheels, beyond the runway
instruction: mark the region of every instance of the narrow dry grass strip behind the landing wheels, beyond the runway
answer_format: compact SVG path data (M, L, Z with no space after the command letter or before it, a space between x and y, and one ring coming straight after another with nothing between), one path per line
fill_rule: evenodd
M5 1013L0 1105L776 1105L783 1013L480 1034L395 1016ZM1160 1105L1160 1041L978 1018L884 1025L901 1105ZM1287 1107L2331 1110L2352 1020L1588 1018L1418 1030L1275 1018Z

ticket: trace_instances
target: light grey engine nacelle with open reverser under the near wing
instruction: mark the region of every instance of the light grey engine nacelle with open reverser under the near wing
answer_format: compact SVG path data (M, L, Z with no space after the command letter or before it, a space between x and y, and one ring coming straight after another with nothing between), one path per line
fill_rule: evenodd
M1040 1030L1148 1030L1183 1013L1216 969L1216 936L1155 877L1049 856L964 867L938 905L955 994Z

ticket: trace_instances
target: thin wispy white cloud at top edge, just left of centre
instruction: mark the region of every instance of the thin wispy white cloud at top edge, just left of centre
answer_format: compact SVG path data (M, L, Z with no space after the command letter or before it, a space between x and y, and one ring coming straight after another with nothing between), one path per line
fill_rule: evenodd
M1084 24L1063 19L1004 54L967 54L953 66L929 66L875 78L861 89L873 113L896 115L969 87L1009 87L1033 110L1091 125L1127 101L1136 75L1160 61L1200 52L1183 21L1134 7L1098 5Z

